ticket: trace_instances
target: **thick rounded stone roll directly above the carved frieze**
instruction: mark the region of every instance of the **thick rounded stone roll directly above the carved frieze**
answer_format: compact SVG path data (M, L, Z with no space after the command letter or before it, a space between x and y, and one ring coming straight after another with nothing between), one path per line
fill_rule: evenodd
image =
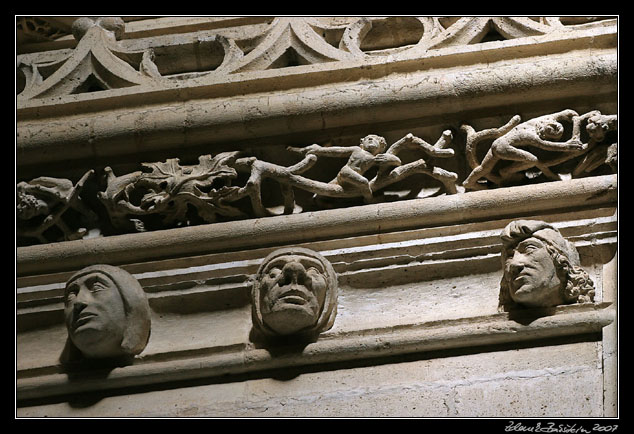
M486 114L500 107L571 98L616 101L617 57L614 49L589 50L584 55L571 52L163 103L153 103L154 92L147 92L141 96L146 104L142 107L129 107L130 97L122 94L104 100L103 111L66 118L22 121L18 109L17 164L22 168L92 160L108 165L114 157L168 152L174 147L186 151L209 146L213 153L214 145L227 143L306 140L308 144L326 137L328 131L359 125L403 121L425 125L438 122L439 116L455 118L465 111Z

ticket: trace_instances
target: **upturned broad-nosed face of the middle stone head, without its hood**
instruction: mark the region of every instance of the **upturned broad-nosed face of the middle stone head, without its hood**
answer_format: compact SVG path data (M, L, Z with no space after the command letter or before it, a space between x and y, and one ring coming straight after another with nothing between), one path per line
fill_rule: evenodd
M298 332L317 323L328 283L323 264L303 255L274 258L262 270L262 321L279 334Z

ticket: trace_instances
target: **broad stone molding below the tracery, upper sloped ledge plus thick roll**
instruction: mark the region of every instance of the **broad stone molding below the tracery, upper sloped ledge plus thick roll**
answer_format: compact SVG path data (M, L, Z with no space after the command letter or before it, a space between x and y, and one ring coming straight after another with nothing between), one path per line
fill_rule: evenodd
M566 40L563 45L561 37ZM502 101L503 105L526 104L582 95L596 101L616 92L614 28L543 38L449 47L403 60L375 56L254 71L210 83L192 79L165 89L133 86L37 100L36 104L19 99L18 161L21 167L56 162L57 150L62 148L67 159L101 160L139 150L170 149L174 143L186 149L327 132L359 123L404 119L428 123L441 114L451 117L485 110ZM580 55L577 50L588 52ZM558 66L551 68L555 58ZM483 61L488 68L483 68ZM456 66L462 70L456 71ZM402 79L410 84L403 86ZM367 99L370 91L372 104ZM231 98L236 94L244 96ZM289 100L293 101L290 111ZM354 116L345 115L353 111ZM289 123L286 119L291 115ZM60 116L69 116L63 119L63 128ZM313 134L309 140L320 138ZM284 143L297 141L286 138Z

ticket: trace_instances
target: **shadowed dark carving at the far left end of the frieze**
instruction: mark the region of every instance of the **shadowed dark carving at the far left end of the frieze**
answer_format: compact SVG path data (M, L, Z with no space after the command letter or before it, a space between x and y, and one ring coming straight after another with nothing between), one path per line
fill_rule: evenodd
M82 238L97 215L80 198L90 170L73 185L68 179L39 177L16 185L18 238L41 243Z

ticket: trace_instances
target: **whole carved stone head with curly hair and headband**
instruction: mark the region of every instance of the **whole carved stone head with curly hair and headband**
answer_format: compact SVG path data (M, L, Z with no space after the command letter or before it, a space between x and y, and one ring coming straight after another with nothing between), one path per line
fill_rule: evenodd
M516 220L500 237L500 310L594 300L594 284L579 266L577 250L557 229L542 221Z

